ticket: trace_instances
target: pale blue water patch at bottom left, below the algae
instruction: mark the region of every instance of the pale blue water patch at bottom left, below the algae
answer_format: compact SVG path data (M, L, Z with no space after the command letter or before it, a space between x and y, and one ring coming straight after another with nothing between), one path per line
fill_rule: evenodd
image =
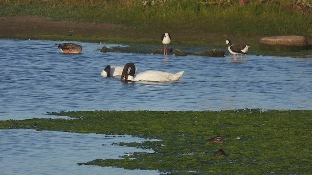
M77 165L97 158L153 152L113 144L146 139L24 129L0 129L0 136L1 175L159 175L148 170Z

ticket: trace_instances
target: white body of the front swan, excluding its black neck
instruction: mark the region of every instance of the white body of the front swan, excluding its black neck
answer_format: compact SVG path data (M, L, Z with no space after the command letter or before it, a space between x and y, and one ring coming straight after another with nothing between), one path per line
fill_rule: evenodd
M138 73L137 76L133 77L129 75L128 81L153 81L153 82L170 82L178 81L183 75L184 71L178 73L170 73L159 70L147 70Z

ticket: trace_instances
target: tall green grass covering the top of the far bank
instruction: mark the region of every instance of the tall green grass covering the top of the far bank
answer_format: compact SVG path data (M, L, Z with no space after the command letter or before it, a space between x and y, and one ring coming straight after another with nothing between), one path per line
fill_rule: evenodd
M312 14L297 11L292 0L240 5L215 0L12 0L0 2L0 16L42 16L53 20L121 23L138 30L199 30L203 33L312 36ZM312 4L311 0L307 1ZM292 9L290 9L292 8Z

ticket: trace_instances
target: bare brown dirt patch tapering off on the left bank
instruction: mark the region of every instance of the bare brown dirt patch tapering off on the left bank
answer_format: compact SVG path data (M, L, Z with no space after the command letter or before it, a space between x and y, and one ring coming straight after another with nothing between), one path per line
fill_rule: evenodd
M1 38L91 37L112 35L122 25L51 21L43 17L0 17Z

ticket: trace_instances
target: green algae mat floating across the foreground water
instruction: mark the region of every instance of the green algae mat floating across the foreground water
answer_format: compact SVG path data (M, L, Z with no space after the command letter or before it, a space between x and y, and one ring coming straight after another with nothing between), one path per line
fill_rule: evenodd
M157 139L117 145L153 149L76 162L171 175L311 174L312 110L72 111L69 119L0 121L1 129L55 130ZM219 136L223 143L208 142ZM226 156L215 156L222 149Z

